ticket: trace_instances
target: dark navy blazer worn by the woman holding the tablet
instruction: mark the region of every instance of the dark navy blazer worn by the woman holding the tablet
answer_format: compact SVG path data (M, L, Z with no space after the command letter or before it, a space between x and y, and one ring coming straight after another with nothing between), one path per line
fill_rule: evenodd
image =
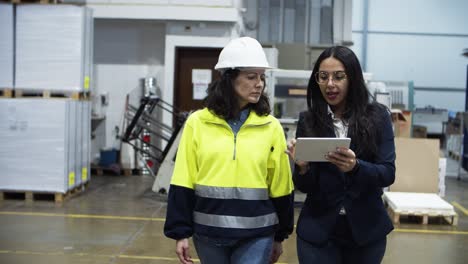
M390 114L386 110L381 114L378 153L357 157L357 170L343 173L328 162L310 162L304 175L295 169L294 184L307 193L296 229L301 239L314 244L328 241L342 206L359 245L382 239L393 230L382 201L382 188L395 181L395 143ZM296 138L307 136L304 115L299 116ZM335 137L334 131L329 132L330 137ZM355 147L351 141L350 148Z

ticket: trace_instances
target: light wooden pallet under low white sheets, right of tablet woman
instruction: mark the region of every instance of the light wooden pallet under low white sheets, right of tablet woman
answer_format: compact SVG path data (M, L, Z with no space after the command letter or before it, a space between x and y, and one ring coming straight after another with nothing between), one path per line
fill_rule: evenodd
M447 213L434 213L434 212L411 212L411 211L399 211L388 207L388 213L392 218L394 225L399 225L401 220L411 223L416 222L419 224L427 225L429 223L447 223L449 225L458 225L458 214L447 214Z

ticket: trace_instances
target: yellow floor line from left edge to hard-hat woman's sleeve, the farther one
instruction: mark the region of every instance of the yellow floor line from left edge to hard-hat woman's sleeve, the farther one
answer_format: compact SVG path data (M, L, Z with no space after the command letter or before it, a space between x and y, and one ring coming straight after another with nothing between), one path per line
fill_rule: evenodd
M164 218L154 217L133 217L133 216L115 216L115 215L87 215L87 214L57 214L57 213L35 213L35 212L8 212L0 211L0 215L24 215L24 216L49 216L49 217L67 217L83 219L106 219L106 220L132 220L132 221L157 221L164 222Z

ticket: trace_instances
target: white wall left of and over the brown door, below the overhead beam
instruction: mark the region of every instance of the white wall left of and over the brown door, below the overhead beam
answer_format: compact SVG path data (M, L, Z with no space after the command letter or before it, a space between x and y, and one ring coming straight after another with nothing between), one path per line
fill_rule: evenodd
M223 22L98 19L95 25L96 94L107 94L109 105L102 107L106 118L95 132L94 156L100 148L120 148L114 129L122 133L125 96L139 89L141 78L156 77L162 99L173 103L177 47L219 48L239 34ZM163 122L171 118L167 113Z

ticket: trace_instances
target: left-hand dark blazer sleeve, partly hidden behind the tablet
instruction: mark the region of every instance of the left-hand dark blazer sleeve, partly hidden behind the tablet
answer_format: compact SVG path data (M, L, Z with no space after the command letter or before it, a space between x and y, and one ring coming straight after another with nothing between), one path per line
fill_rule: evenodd
M297 122L296 128L296 138L307 136L305 113L306 112L302 112L299 114L299 120ZM293 180L294 185L299 191L303 193L311 193L317 189L318 173L314 172L317 172L317 164L315 162L309 162L309 170L303 175L299 174L299 167L294 164Z

